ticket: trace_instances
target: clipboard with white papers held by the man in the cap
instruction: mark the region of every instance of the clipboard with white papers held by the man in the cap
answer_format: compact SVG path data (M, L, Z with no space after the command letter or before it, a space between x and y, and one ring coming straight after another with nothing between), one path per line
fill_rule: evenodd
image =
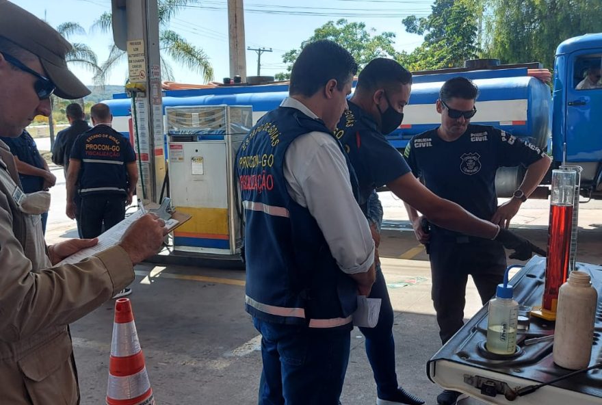
M157 211L160 207L163 207L163 205L159 206L158 204L149 204L148 211L155 213L155 211ZM121 238L129 228L129 226L133 224L136 220L138 220L138 218L141 218L142 215L144 215L145 213L146 209L139 209L138 211L135 211L131 215L127 216L124 220L122 220L112 228L99 235L98 244L92 246L91 248L79 250L79 252L72 254L69 257L66 257L56 265L79 263L84 259L88 259L88 257L94 256L94 254L100 253L103 250L107 250L108 248L116 246L121 241ZM165 226L166 228L168 228L169 232L172 232L175 228L192 218L191 215L187 213L181 213L178 211L166 211L166 213L162 215L163 217L165 217L166 215L169 215L170 217L167 220L165 220ZM159 215L159 217L161 218L161 215Z

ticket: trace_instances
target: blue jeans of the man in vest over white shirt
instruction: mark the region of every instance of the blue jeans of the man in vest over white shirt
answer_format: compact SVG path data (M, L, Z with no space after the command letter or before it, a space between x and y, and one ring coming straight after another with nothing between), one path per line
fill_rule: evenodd
M349 330L325 330L265 322L259 405L337 405L349 362Z

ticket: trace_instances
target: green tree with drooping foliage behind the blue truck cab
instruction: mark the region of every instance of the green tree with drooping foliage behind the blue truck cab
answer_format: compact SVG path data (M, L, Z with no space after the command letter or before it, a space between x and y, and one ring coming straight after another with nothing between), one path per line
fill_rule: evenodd
M484 55L553 68L560 42L602 31L600 0L486 0Z

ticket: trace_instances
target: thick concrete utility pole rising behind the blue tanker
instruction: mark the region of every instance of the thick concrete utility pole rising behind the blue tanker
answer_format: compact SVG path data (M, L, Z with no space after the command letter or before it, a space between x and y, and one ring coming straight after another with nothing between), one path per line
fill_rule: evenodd
M244 47L243 0L228 0L228 40L230 43L230 77L247 78L247 62Z

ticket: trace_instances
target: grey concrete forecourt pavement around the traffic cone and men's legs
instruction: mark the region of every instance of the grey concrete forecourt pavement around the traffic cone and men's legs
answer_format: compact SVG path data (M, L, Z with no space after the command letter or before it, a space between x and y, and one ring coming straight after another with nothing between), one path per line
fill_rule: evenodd
M53 169L53 173L57 185L51 189L49 243L77 237L75 222L64 213L62 168ZM385 218L402 220L400 202L387 194L382 193ZM584 242L579 248L585 246L586 257L601 263L601 203L582 207L586 208L581 210L585 213L579 224L585 231L580 235ZM524 228L519 233L545 246L547 231L541 226L547 224L547 215L547 202L527 202L516 218ZM408 228L403 223L400 227ZM430 301L428 257L411 231L384 231L380 252L395 311L393 332L400 384L421 395L427 404L436 404L441 389L426 376L426 362L440 345ZM136 267L130 298L157 404L257 403L259 337L244 311L243 285L244 272L240 271L176 265ZM113 305L113 301L103 304L71 328L83 405L101 404L105 397ZM465 315L470 317L479 308L480 299L469 281ZM344 405L374 404L376 400L364 343L361 332L354 330L341 397Z

